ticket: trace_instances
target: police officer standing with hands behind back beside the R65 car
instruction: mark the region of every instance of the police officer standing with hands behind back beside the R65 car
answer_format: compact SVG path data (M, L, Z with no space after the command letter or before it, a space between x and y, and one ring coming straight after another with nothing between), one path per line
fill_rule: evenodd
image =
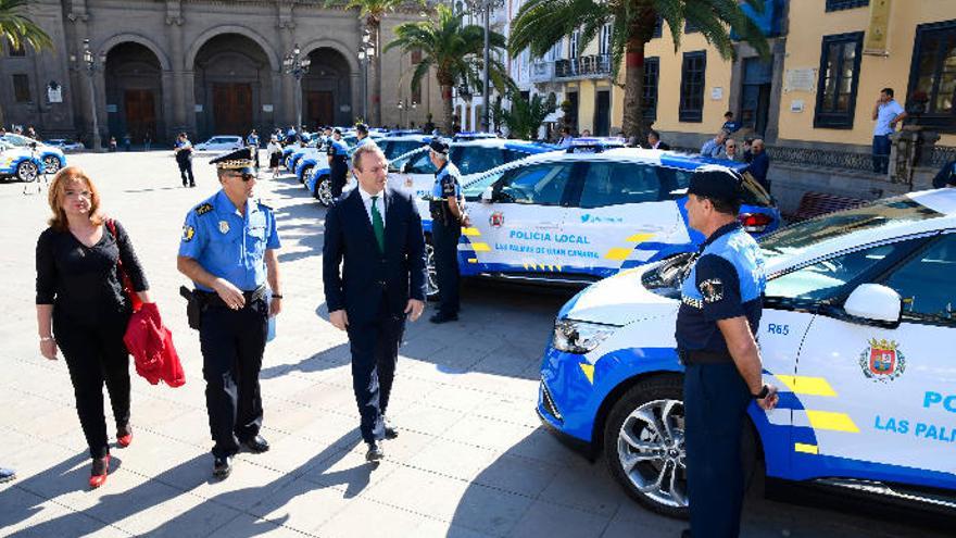
M765 385L754 335L766 285L756 241L741 228L742 179L722 166L691 176L688 224L706 237L681 285L677 347L685 366L683 395L693 538L740 533L743 468L740 438L751 401L777 404Z

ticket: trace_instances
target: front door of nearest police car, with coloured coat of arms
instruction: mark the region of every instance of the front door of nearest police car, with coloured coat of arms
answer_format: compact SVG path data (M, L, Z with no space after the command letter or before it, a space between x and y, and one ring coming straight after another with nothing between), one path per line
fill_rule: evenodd
M954 236L864 247L768 284L768 295L818 302L793 379L794 462L805 478L848 477L956 485L952 458L956 392L952 310ZM895 289L898 326L852 318L842 309L859 284ZM951 406L956 398L949 400ZM942 480L942 481L941 481Z

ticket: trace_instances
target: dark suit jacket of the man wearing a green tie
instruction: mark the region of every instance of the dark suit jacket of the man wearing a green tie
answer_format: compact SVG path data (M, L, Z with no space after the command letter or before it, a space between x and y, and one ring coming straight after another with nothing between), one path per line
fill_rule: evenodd
M425 235L418 209L405 192L387 187L383 198L385 254L378 251L358 188L336 200L326 214L325 302L329 312L344 309L349 324L377 321L382 314L402 317L410 298L425 300Z

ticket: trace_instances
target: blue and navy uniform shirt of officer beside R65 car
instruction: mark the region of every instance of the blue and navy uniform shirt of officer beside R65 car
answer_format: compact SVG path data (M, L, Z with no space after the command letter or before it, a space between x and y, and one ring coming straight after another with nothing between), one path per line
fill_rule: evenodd
M677 346L682 351L726 353L717 322L746 316L756 335L766 287L764 259L757 242L739 223L714 232L681 285Z

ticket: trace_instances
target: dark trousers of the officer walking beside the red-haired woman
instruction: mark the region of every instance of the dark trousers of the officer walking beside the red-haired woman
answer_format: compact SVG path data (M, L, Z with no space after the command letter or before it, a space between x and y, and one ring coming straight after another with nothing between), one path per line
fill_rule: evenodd
M268 327L265 298L241 310L210 304L202 313L199 343L205 406L210 418L213 454L232 455L239 443L259 435L262 393L259 372Z

